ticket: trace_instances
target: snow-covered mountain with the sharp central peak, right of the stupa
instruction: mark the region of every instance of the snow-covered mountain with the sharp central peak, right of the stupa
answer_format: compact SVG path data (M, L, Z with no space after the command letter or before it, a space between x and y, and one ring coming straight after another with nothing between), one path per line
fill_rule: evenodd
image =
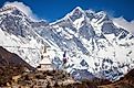
M66 51L66 70L76 79L95 76L114 81L134 67L134 36L103 11L76 7L63 19L34 30L56 44L53 64L58 68Z

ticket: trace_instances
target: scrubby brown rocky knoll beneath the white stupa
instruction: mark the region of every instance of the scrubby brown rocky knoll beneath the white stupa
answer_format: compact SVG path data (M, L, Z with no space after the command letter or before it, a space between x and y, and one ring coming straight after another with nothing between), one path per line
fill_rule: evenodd
M97 88L101 85L111 84L109 80L94 79L82 81L74 80L73 77L64 70L52 72L32 72L22 74L11 87L21 88Z

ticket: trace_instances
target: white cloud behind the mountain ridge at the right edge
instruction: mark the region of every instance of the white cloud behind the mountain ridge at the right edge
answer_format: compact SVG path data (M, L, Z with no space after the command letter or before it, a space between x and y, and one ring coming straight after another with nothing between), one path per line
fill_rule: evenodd
M113 18L113 22L115 23L115 25L118 25L118 26L127 30L132 34L134 34L134 20L128 22L123 16L121 16L121 18Z

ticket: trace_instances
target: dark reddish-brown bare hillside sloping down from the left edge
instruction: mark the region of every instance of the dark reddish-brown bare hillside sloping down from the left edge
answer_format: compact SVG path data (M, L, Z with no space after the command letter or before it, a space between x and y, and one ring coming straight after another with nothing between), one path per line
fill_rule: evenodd
M25 69L33 70L34 68L17 54L0 46L0 86L11 82L12 76L21 75Z

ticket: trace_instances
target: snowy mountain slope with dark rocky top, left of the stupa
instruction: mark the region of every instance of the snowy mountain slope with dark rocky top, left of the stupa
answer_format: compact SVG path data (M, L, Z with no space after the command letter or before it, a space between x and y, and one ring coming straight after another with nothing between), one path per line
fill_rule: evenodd
M18 8L9 6L0 9L0 46L18 54L27 63L37 67L41 61L44 40L37 34L31 20Z

